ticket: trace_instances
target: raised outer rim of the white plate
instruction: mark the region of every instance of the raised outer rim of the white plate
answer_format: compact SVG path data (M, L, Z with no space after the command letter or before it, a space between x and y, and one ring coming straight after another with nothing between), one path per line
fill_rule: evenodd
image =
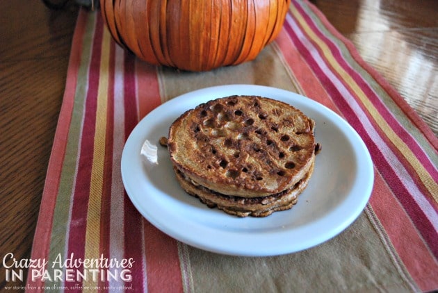
M145 211L143 208L141 208L140 204L138 203L138 198L133 195L133 192L131 190L131 186L129 183L129 178L127 178L127 174L125 170L125 164L127 164L127 156L129 156L129 153L127 153L127 148L130 146L131 141L133 140L132 137L135 137L137 135L138 129L142 127L143 124L145 124L145 119L152 119L151 117L154 117L154 115L157 115L157 113L160 113L163 109L172 107L174 104L179 103L182 100L185 100L187 98L190 98L193 95L197 96L204 96L205 94L209 94L211 92L234 92L235 94L245 94L245 92L274 92L273 96L278 97L279 94L283 96L282 99L295 99L299 97L300 99L305 99L305 101L309 107L311 107L313 110L318 110L318 112L325 112L327 115L330 115L330 117L336 118L336 125L341 124L341 126L337 125L338 127L341 127L339 129L342 130L343 133L347 133L348 135L352 135L352 137L348 137L350 140L355 140L357 144L359 144L359 147L361 147L361 156L362 156L362 162L359 164L365 164L362 167L365 167L364 170L362 170L362 176L366 175L366 190L364 190L364 196L362 196L362 201L358 203L358 207L355 209L355 212L352 212L346 219L342 221L341 224L338 224L336 228L332 229L332 231L327 231L324 235L320 235L318 237L318 240L311 239L307 242L302 242L300 244L295 244L295 246L268 246L268 247L259 247L256 246L254 249L248 249L243 247L232 247L231 249L224 249L220 245L217 244L211 244L213 240L211 241L197 241L196 239L193 239L193 237L188 237L186 233L182 233L181 231L175 231L175 228L169 229L168 225L163 225L162 221L156 218L155 215L151 215L150 211ZM231 94L230 94L231 95ZM262 96L266 97L266 94L261 94ZM222 97L225 97L226 95L222 95ZM219 96L218 96L219 97ZM215 99L216 97L211 97L211 99ZM275 97L273 97L275 99ZM203 98L203 100L208 101L207 98ZM204 102L205 102L204 101ZM186 105L186 104L184 104ZM193 102L194 106L197 106L197 103ZM193 106L193 108L194 108ZM186 108L186 110L189 110L190 108ZM183 111L184 112L184 111ZM182 114L182 112L180 113ZM331 122L334 122L330 120ZM314 101L308 97L302 96L301 94L291 92L288 90L279 89L277 87L270 87L266 85L245 85L245 84L236 84L236 85L216 85L213 87L204 87L199 90L193 90L191 92L186 92L184 94L179 95L178 97L175 97L173 99L170 99L169 101L166 101L165 103L162 103L160 106L156 107L154 110L149 112L143 119L138 122L138 124L133 128L131 131L127 141L124 144L123 151L122 151L122 160L121 160L121 171L122 171L122 182L124 185L124 189L126 190L129 199L135 206L135 208L140 212L140 214L145 217L152 225L156 226L156 228L159 228L160 231L163 233L169 235L170 237L175 238L176 240L179 240L181 242L184 242L190 246L195 246L199 249L204 249L206 251L211 251L215 253L222 253L222 254L228 254L228 255L234 255L234 256L277 256L282 255L286 253L293 253L297 251L301 251L304 249L309 249L310 247L316 246L318 244L321 244L323 242L326 242L327 240L330 240L332 237L338 235L343 230L345 230L350 224L352 224L357 217L362 213L364 210L366 203L368 203L368 200L371 196L373 183L374 183L374 172L373 172L373 162L371 160L371 155L366 148L366 145L362 138L357 134L357 132L346 122L345 119L343 119L341 116L336 114L336 112L332 111L330 108L327 108L321 103L318 103L317 101ZM359 176L356 176L356 179ZM268 219L268 217L266 218ZM197 223L197 228L200 228L200 231L203 233L207 233L208 231L205 231L206 227L203 227L199 223ZM202 227L204 229L202 229ZM285 237L287 236L290 231L275 231L270 233L270 239L272 240L278 240L279 237ZM230 232L228 232L230 233ZM207 233L208 234L208 233ZM236 236L236 235L234 235ZM214 237L214 235L212 235ZM247 237L248 240L257 240L257 233L256 235L247 235L245 234L245 237Z

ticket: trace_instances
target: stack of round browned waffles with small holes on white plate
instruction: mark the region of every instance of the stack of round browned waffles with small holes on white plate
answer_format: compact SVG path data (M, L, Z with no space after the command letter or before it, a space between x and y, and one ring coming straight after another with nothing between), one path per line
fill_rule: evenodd
M314 121L256 96L202 103L170 126L168 150L181 186L225 212L266 217L287 210L314 169Z

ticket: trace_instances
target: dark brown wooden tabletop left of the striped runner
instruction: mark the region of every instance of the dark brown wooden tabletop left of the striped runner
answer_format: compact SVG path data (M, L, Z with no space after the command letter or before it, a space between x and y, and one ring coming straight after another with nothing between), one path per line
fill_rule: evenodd
M0 1L1 288L23 284L6 282L6 253L31 256L77 10Z

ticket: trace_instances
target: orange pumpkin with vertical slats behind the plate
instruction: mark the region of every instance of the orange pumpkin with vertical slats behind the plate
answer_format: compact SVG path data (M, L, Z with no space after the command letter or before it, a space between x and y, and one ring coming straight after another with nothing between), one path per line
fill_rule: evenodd
M291 0L100 0L122 47L153 65L200 72L253 60Z

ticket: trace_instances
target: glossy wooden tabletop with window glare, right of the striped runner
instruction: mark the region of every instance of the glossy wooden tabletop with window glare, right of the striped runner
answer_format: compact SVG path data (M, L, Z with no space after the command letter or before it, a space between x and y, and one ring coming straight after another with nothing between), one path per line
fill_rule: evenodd
M311 3L438 135L438 1Z

